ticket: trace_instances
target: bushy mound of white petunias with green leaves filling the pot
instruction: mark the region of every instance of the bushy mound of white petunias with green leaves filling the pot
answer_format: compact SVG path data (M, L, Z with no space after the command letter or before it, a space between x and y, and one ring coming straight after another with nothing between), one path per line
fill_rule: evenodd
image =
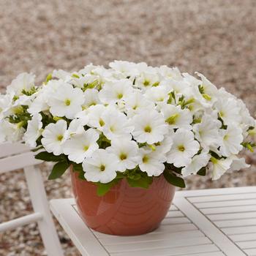
M56 162L49 178L72 165L98 186L98 194L126 178L147 188L162 173L178 187L184 176L215 180L248 167L238 158L255 119L244 102L166 66L113 61L78 72L55 70L41 86L22 73L0 95L0 142L23 141L41 150L37 159Z

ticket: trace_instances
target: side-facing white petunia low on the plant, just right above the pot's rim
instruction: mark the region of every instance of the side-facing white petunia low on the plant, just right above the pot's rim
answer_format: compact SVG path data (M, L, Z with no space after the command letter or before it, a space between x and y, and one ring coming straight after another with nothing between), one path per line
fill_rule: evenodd
M181 170L182 175L186 177L190 174L197 174L198 170L208 165L210 158L211 155L207 153L196 154L190 164Z

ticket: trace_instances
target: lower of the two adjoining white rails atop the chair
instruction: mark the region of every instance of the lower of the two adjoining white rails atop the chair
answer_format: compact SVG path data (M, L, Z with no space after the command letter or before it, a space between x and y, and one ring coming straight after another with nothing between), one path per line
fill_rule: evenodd
M11 170L23 169L31 165L38 165L42 161L34 159L34 152L26 152L12 157L0 159L0 174Z

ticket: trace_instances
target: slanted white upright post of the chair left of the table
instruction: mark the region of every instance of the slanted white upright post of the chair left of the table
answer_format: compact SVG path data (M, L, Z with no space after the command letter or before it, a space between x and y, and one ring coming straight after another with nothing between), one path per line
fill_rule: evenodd
M34 211L40 212L43 217L37 223L46 252L48 253L48 256L61 256L63 255L63 252L53 219L50 215L41 172L39 168L29 166L24 168L24 173L29 187L29 194Z

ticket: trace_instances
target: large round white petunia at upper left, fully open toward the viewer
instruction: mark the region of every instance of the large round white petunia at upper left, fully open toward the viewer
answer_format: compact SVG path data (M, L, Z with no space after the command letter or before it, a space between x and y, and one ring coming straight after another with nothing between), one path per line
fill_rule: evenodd
M63 83L55 94L49 96L48 105L53 116L66 116L72 119L82 110L83 91L79 88L74 89L69 83Z

